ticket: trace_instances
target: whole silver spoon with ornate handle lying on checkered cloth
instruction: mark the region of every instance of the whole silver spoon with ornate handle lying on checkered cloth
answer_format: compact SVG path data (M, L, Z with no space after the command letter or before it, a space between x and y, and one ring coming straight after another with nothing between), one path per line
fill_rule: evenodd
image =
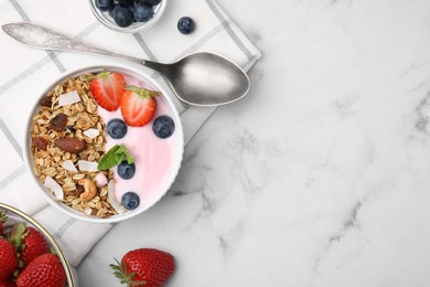
M103 54L142 64L164 76L181 100L195 106L233 103L249 91L247 74L232 61L214 53L194 53L175 63L161 64L90 46L34 23L9 23L1 29L30 47Z

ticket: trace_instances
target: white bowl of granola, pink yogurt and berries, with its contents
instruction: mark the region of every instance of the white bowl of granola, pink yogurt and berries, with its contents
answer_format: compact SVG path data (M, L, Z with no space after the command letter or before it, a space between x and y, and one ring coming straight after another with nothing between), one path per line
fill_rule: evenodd
M36 97L24 157L45 199L78 220L110 223L154 205L181 167L171 95L140 70L86 66Z

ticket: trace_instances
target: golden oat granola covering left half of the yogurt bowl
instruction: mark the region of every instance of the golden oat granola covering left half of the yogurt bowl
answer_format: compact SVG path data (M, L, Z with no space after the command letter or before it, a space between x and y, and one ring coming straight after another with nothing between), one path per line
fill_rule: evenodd
M80 211L87 215L97 217L109 217L117 214L108 201L108 185L97 187L97 191L90 200L83 200L84 185L79 182L97 182L96 177L103 173L108 181L114 180L110 170L107 171L83 171L64 168L65 161L71 161L78 167L78 161L97 162L105 155L106 126L98 116L98 105L90 93L90 81L94 74L83 74L69 77L55 86L41 100L40 109L32 118L32 147L31 152L34 159L34 174L45 182L52 178L63 190L64 196L61 200L67 206ZM79 102L69 105L60 105L61 96L76 92ZM65 119L66 118L66 119ZM97 130L95 137L88 137L88 130ZM90 132L94 134L94 132ZM63 139L63 140L62 140ZM79 140L80 145L73 151L73 148L64 147L64 141L75 145L72 140ZM62 145L55 145L58 140Z

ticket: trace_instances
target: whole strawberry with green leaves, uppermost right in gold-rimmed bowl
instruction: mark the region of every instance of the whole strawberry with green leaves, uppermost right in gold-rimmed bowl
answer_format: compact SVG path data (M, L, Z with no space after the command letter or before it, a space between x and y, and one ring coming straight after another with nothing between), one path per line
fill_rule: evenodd
M49 253L50 245L37 230L19 223L13 226L10 241L20 254L20 259L26 266L35 257Z

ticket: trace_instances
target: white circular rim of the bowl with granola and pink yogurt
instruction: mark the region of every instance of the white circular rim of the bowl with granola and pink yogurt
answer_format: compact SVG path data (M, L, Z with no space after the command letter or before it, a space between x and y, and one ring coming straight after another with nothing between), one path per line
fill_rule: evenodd
M79 74L83 74L83 73L87 73L87 72L95 73L95 72L99 72L99 71L116 71L116 72L120 72L120 73L123 72L123 73L127 73L127 74L131 74L131 75L133 75L133 76L136 76L138 78L144 79L144 82L149 83L151 86L153 86L154 88L157 88L158 91L161 92L161 94L163 95L164 100L168 103L168 106L169 106L169 108L170 108L170 110L172 113L172 116L174 118L175 124L178 124L178 125L175 125L175 132L178 132L178 147L176 147L178 155L175 155L176 160L175 160L175 162L172 163L172 164L174 164L174 167L173 167L173 169L171 171L171 177L163 184L165 187L163 192L160 192L160 194L153 196L153 199L151 199L151 201L146 205L146 208L141 208L141 209L138 208L137 210L127 211L127 212L125 212L122 214L112 215L112 216L107 217L107 219L101 219L101 217L86 215L83 212L73 210L72 208L66 206L64 203L62 203L62 202L60 202L60 201L54 199L54 196L46 190L46 188L43 185L43 183L39 180L39 178L33 172L33 156L32 156L32 152L31 152L32 140L31 140L31 136L30 136L31 131L32 131L32 117L34 116L34 114L40 108L40 99L44 95L46 95L49 91L51 91L57 84L60 84L63 81L65 81L67 77L76 76L76 75L79 75ZM63 213L72 216L72 217L75 217L77 220L92 222L92 223L116 223L116 222L121 222L121 221L131 219L133 216L137 216L138 214L141 214L144 211L151 209L153 205L155 205L168 193L168 191L172 187L174 180L178 177L179 170L180 170L180 168L182 166L183 155L184 155L184 132L183 132L182 120L181 120L180 114L179 114L179 111L178 111L173 100L171 99L171 96L173 97L174 95L171 95L171 96L170 95L171 95L171 93L168 93L161 86L161 84L159 84L153 77L149 76L148 73L146 73L146 72L143 72L141 70L137 70L135 67L128 66L128 65L123 65L123 64L106 64L106 65L95 64L95 65L86 65L86 66L82 66L82 67L78 67L78 68L75 68L75 70L71 70L71 71L68 71L66 73L63 73L60 76L57 76L36 97L35 102L34 102L34 105L33 105L33 108L31 109L31 113L30 113L30 115L28 117L25 132L24 132L24 139L23 139L23 142L24 142L24 150L23 150L24 161L25 161L25 166L26 166L28 170L31 173L31 178L33 179L33 182L35 182L36 185L37 185L37 190L42 193L42 195L46 199L46 201L51 205L56 208L57 210L62 211Z

